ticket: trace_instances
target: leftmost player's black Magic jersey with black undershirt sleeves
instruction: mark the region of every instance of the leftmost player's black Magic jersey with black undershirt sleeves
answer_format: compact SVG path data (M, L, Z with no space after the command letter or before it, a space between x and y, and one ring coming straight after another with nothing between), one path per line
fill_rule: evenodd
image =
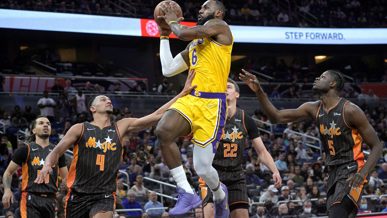
M66 167L64 154L60 156L58 163L52 166L53 175L47 174L48 184L34 183L45 165L46 157L54 148L55 144L52 143L42 148L35 142L29 142L15 151L12 161L22 166L22 191L41 194L54 194L58 191L58 168Z

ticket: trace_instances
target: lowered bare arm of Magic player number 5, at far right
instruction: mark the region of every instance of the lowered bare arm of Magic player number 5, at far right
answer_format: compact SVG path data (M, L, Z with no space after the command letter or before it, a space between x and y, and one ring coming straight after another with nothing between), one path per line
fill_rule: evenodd
M344 109L344 117L346 117L348 126L353 127L353 129L356 128L363 138L363 141L371 148L370 155L361 170L347 179L347 182L349 181L349 187L358 189L366 175L370 173L373 167L375 167L376 162L382 154L383 148L375 130L368 122L364 112L353 103L349 103Z

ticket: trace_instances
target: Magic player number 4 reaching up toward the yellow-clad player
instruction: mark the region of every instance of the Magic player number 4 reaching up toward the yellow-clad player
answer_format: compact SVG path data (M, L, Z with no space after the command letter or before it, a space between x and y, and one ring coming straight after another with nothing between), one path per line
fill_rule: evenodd
M188 74L183 91L156 112L142 118L125 118L110 122L113 106L108 97L94 96L89 101L92 123L72 126L57 147L46 158L36 183L40 184L51 172L51 164L74 145L74 158L68 173L65 214L71 218L113 218L117 173L121 167L123 144L130 132L138 132L155 125L165 110L178 98L190 93L194 70Z

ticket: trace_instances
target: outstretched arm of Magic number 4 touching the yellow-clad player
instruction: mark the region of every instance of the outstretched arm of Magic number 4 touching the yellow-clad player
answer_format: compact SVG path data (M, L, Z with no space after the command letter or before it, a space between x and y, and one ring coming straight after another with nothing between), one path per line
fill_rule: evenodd
M129 132L137 132L157 124L160 121L161 117L163 117L166 109L168 109L173 103L175 103L175 101L178 98L186 96L188 93L192 91L192 89L195 89L197 87L197 85L191 86L191 83L194 77L195 77L195 70L192 69L188 74L187 81L185 81L185 86L183 91L180 94L178 94L175 98L173 98L171 101L161 106L155 112L142 118L122 119L117 122L117 125L119 126L123 125L125 132L129 133Z

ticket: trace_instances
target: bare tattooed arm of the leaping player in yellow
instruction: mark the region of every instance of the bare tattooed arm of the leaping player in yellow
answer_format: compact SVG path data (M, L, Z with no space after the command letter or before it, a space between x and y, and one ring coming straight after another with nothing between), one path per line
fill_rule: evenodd
M207 21L203 26L199 25L194 27L187 27L177 22L172 22L170 27L173 34L183 41L216 36L222 33L231 33L226 22L219 19L212 19Z

